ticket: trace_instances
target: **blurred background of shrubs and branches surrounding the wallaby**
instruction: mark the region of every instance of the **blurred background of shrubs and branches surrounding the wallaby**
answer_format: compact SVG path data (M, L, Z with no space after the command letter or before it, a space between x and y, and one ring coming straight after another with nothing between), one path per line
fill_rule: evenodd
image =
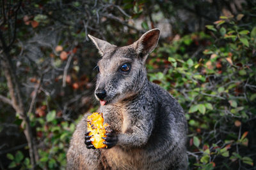
M65 169L97 110L88 34L130 45L152 28L148 79L188 120L189 169L256 169L255 0L1 0L0 169Z

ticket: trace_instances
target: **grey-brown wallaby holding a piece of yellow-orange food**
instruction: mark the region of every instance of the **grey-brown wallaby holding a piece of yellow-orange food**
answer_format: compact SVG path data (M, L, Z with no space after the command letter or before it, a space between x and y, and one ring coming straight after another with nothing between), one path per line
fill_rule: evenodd
M187 123L177 101L148 81L145 61L158 43L152 29L129 46L115 46L89 36L102 59L95 97L104 122L108 148L95 149L84 115L72 136L67 169L186 169Z

